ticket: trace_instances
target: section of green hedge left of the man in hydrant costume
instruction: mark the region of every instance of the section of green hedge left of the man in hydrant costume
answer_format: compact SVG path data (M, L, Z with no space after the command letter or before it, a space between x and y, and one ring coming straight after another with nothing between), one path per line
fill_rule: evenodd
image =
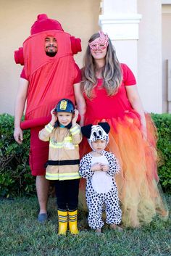
M24 131L20 146L14 141L14 117L0 115L0 196L17 197L35 193L35 178L30 176L28 154L30 132Z

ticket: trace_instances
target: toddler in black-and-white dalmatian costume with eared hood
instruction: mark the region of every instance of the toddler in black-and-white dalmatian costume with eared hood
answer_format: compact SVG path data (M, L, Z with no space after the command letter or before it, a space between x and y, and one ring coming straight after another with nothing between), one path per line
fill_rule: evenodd
M111 228L122 231L117 226L122 212L117 193L114 175L119 173L120 165L114 154L107 152L109 142L109 124L86 125L81 131L93 149L80 161L80 176L86 178L86 202L88 205L88 225L101 233L104 221L101 219L103 207L106 207L106 222Z

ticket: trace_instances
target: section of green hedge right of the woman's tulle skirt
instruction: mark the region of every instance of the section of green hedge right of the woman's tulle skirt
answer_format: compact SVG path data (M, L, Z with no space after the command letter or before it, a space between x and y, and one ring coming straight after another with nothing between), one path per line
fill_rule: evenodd
M171 191L171 115L151 114L151 117L157 126L157 149L162 157L158 167L160 183L165 191Z

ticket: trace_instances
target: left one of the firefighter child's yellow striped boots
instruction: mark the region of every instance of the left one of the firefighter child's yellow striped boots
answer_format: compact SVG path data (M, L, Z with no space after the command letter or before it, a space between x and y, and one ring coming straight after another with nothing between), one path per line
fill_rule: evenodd
M67 211L58 210L58 235L66 235L67 232Z

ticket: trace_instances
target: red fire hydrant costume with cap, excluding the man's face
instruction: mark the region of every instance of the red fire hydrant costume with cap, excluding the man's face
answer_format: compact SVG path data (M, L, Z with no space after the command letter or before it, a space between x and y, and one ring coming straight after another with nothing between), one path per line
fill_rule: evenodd
M46 55L44 42L47 36L57 39L58 51L54 57ZM64 32L57 20L38 15L31 28L31 36L14 53L16 63L24 65L29 80L25 121L21 128L44 125L50 120L50 111L62 98L75 102L73 83L78 76L78 66L73 54L81 51L80 38Z

